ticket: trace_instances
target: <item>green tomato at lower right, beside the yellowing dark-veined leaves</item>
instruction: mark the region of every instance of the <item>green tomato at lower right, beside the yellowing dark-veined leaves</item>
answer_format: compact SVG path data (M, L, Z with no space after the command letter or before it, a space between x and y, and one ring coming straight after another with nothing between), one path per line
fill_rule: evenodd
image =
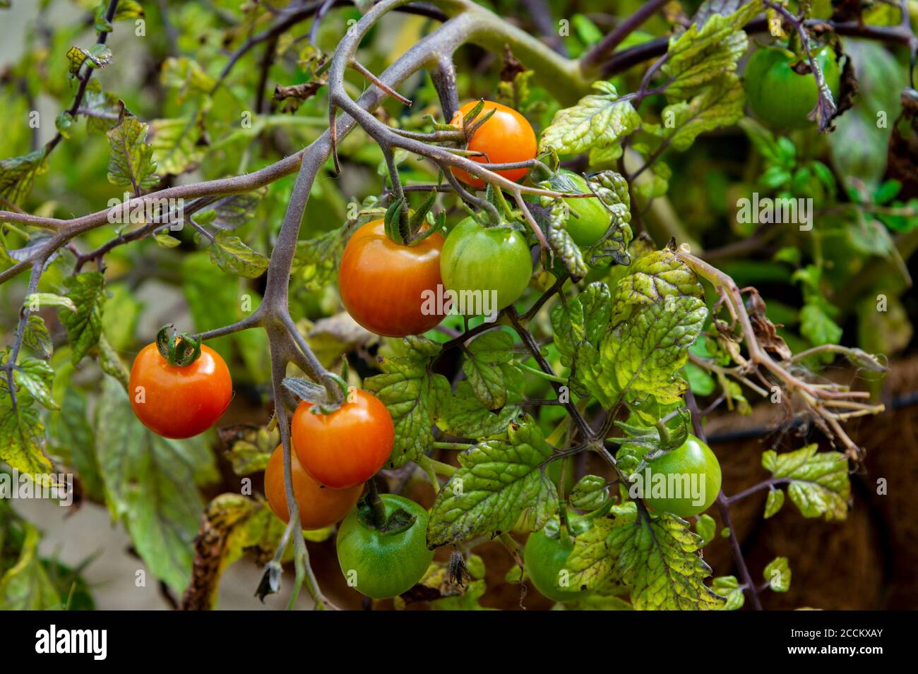
M690 517L710 508L721 492L721 464L711 447L695 436L689 435L682 445L647 466L637 480L644 503L655 510Z

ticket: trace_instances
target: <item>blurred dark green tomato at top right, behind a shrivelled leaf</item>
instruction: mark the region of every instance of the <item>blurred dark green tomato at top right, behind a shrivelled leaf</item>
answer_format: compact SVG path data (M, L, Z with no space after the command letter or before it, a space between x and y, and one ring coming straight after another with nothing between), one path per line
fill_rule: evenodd
M825 82L837 100L841 90L838 61L833 50L823 47L815 54ZM802 128L812 124L807 119L818 100L816 78L812 73L800 75L791 65L797 57L787 50L756 50L746 62L743 82L749 107L762 121L773 127Z

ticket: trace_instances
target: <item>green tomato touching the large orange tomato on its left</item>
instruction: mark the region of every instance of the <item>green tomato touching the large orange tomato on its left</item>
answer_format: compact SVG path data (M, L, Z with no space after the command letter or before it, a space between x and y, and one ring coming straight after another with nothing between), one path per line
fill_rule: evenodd
M446 237L440 256L443 287L456 293L487 294L488 303L497 293L497 306L492 311L515 302L529 285L532 276L532 256L526 239L509 227L482 227L475 218L453 227ZM473 295L467 295L472 297ZM482 314L469 311L466 314Z

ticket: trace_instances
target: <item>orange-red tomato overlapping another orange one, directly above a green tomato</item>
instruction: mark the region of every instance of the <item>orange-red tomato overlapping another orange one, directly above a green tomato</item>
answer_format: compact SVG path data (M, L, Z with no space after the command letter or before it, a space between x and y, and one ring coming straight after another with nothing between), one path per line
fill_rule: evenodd
M348 489L373 477L395 440L392 416L373 393L352 389L348 400L331 414L313 414L312 404L303 401L291 424L303 470L333 489Z

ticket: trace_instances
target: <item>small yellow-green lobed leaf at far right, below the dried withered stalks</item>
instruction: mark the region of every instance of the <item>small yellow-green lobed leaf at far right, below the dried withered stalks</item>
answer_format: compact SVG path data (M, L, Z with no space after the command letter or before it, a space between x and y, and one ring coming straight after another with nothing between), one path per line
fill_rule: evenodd
M783 454L769 449L762 465L776 478L789 478L788 495L804 517L844 520L851 497L848 462L844 454L818 448L807 445Z

